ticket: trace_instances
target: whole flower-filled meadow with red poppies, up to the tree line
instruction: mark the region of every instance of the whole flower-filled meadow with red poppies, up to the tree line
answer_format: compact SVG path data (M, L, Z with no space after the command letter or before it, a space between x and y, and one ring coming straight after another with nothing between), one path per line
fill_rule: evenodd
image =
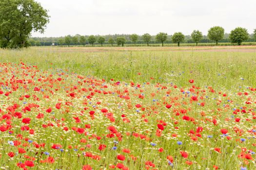
M0 61L0 169L256 169L256 46L40 47Z

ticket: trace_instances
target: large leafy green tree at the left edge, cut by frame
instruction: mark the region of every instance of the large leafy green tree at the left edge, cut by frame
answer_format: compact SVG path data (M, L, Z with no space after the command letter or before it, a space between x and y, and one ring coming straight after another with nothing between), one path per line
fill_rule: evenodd
M43 33L48 22L47 10L35 0L0 0L0 47L27 47L31 32Z

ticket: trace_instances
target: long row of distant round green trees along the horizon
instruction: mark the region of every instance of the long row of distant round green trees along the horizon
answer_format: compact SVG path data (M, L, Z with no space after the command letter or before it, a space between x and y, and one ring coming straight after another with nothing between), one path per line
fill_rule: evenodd
M150 35L150 34L128 34L128 35L67 35L65 37L56 37L56 38L37 38L33 37L29 40L32 46L49 46L54 43L54 45L83 45L91 44L92 46L95 44L109 44L114 45L117 44L118 46L124 46L125 43L127 44L134 44L137 43L145 43L149 46L150 43L161 43L162 46L164 43L177 43L179 46L180 43L210 43L216 42L231 42L236 43L237 45L241 45L242 42L252 42L256 41L256 29L254 30L254 34L248 34L247 29L237 27L236 29L232 30L230 34L225 34L224 29L219 26L212 27L208 30L208 34L203 35L202 32L198 30L194 30L191 35L184 35L181 32L174 33L173 35L168 35L167 33L158 33L157 35Z

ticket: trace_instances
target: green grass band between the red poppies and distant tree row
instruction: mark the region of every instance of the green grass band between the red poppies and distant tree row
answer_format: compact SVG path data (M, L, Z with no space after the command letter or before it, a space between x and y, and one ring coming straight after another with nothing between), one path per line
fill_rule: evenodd
M199 48L199 47L197 47ZM199 50L199 51L198 51ZM60 68L106 80L200 86L256 86L256 47L29 48L0 51L2 62ZM140 76L138 76L140 73ZM152 80L154 79L154 80Z

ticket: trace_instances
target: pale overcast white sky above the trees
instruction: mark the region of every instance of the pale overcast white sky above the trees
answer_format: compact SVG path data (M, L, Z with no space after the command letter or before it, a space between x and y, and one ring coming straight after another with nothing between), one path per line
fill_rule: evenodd
M221 26L225 33L256 28L256 0L36 0L48 10L50 22L43 34L65 35L145 34L159 32L207 34Z

